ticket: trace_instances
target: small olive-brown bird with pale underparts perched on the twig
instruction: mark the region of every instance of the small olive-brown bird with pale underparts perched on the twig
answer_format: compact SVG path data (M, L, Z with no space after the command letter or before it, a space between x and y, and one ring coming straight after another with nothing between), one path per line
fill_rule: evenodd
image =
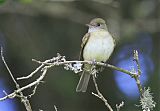
M88 32L82 38L79 60L106 62L115 48L115 40L109 33L105 20L94 18L86 25ZM84 64L76 92L86 92L91 67L90 64Z

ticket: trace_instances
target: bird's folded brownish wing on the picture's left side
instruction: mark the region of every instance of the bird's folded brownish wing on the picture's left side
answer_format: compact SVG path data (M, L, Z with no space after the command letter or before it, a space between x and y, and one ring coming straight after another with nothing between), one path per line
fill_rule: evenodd
M80 51L80 56L79 56L79 60L83 60L83 49L87 43L87 41L89 40L90 34L86 33L82 39L82 43L81 43L81 51Z

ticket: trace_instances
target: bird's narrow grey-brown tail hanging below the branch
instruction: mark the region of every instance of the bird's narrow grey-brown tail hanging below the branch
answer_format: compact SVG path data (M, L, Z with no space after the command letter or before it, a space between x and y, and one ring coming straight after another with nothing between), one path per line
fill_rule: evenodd
M81 78L76 88L76 92L86 92L90 76L91 75L88 71L82 72Z

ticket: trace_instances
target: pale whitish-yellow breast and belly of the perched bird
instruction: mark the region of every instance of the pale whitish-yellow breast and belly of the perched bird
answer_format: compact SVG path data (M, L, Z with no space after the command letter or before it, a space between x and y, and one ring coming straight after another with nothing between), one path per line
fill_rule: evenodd
M83 50L84 60L107 61L114 50L114 41L108 31L95 31Z

